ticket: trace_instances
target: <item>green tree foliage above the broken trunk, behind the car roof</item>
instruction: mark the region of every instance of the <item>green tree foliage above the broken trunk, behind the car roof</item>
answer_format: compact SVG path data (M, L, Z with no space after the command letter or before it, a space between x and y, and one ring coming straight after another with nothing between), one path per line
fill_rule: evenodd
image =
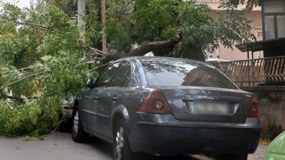
M234 43L256 40L251 33L251 21L243 17L246 11L227 9L216 13L205 4L197 4L196 0L108 2L119 6L116 10L107 9L105 24L108 46L118 52L128 53L134 44L163 41L181 35L182 43L174 51L154 51L160 52L156 55L203 61L204 53L213 52L219 43L232 49ZM126 8L125 5L131 7ZM219 18L214 20L209 13L218 14Z

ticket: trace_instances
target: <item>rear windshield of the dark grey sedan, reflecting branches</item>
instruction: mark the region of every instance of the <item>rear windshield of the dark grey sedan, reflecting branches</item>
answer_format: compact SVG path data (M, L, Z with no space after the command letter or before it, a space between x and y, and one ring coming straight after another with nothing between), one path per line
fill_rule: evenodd
M142 61L142 65L149 85L237 89L212 65L171 61Z

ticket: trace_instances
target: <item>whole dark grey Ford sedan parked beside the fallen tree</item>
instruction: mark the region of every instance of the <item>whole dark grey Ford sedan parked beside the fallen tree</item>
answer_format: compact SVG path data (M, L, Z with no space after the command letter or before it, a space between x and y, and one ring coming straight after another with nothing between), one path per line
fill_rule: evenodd
M76 97L73 140L113 143L113 159L215 153L247 159L260 137L255 95L209 63L165 57L113 62Z

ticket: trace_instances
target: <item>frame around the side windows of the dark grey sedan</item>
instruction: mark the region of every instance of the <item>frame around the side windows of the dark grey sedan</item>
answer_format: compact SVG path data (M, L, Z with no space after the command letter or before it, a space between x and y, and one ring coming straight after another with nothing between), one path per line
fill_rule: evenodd
M113 65L113 64L115 64L115 63L119 63L119 65L118 65L118 67L119 67L123 61L127 61L127 62L130 64L130 67L131 67L130 81L131 81L131 79L132 79L132 77L133 77L133 64L132 64L132 62L131 62L130 60L124 59L124 60L114 61L114 62L111 63L106 69L104 69L104 71L97 77L96 82L95 82L95 86L97 85L98 80L99 80L99 78L101 77L101 75L102 75L109 67L111 67L111 65ZM115 72L117 71L118 67L115 69ZM130 81L129 81L127 87L109 87L111 81L113 80L113 77L114 77L114 75L112 76L111 80L109 81L107 87L95 87L95 88L128 88L128 87L130 87Z

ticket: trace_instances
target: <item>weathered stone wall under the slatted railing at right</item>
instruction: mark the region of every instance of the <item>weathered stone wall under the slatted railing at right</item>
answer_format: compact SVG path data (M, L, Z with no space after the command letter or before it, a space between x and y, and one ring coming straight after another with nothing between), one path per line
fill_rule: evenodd
M275 120L285 130L285 87L240 87L254 93L258 101L259 118L262 130L268 127L268 119Z

